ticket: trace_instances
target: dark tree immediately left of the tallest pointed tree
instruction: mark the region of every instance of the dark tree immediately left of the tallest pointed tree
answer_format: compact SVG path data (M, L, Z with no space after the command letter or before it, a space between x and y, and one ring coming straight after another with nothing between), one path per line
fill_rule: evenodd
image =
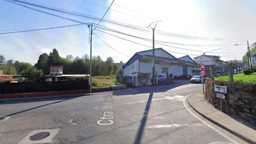
M41 54L35 66L38 70L42 70L44 74L49 74L49 55L46 53Z

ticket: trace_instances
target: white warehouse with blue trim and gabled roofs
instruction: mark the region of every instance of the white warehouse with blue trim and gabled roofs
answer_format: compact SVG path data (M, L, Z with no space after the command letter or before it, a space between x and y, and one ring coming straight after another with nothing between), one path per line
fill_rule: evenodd
M135 86L151 85L152 78L152 50L136 52L123 66L123 76L132 77ZM199 64L190 56L176 58L162 48L155 49L155 71L158 74L198 75Z

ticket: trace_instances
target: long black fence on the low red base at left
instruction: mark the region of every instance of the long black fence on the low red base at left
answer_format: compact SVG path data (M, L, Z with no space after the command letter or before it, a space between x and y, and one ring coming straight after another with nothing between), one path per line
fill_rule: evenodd
M88 80L40 83L0 83L0 94L88 90Z

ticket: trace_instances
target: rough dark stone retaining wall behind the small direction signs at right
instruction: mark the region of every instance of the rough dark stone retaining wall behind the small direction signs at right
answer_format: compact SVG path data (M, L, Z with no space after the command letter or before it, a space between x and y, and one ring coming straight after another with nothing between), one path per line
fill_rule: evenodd
M205 99L220 110L220 98L216 97L214 85L227 86L226 98L222 100L222 110L235 114L256 124L256 83L224 82L205 80Z

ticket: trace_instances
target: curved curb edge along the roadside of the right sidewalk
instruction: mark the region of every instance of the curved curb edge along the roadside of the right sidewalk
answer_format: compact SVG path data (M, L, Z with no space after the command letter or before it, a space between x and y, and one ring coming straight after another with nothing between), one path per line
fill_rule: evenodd
M205 119L209 120L209 121L212 122L213 124L215 124L215 125L217 125L217 126L223 128L224 130L227 130L227 131L230 132L231 134L234 134L235 136L241 138L242 140L244 140L244 141L246 141L246 142L248 142L248 143L250 143L250 144L256 144L256 142L253 141L253 140L250 140L250 138L247 138L246 136L243 136L242 134L239 134L239 133L237 133L237 132L235 132L235 131L233 131L233 130L230 130L230 129L227 128L226 126L224 126L224 125L222 125L222 124L216 122L215 120L212 120L212 119L209 118L208 116L202 114L201 112L199 112L198 110L196 110L196 109L189 103L188 100L187 100L187 102L188 102L189 106L190 106L194 111L196 111L198 114L200 114L202 117L204 117Z

